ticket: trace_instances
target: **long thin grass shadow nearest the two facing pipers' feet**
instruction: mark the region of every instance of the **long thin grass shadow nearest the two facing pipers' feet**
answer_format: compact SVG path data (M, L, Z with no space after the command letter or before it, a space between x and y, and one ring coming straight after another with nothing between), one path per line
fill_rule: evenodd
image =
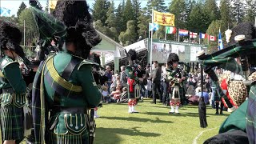
M163 121L160 118L149 119L149 118L136 118L136 117L101 117L106 119L113 119L113 120L122 120L122 121L133 121L133 122L152 122L152 123L172 123L171 121Z

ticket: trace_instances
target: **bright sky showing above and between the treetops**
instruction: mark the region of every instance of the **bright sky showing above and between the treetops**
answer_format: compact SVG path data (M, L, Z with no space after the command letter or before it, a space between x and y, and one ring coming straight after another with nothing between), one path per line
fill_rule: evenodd
M90 8L93 7L93 4L95 0L86 0L89 3ZM171 0L166 0L166 5L170 3ZM21 3L24 2L26 6L29 6L29 0L0 0L0 7L6 8L10 10L10 15L16 15L18 11L18 7L21 5ZM46 6L46 0L39 0L42 7ZM119 3L122 2L122 0L114 0L114 6L115 8L118 7ZM147 0L140 0L142 2L142 7L146 6ZM43 9L44 10L44 9Z

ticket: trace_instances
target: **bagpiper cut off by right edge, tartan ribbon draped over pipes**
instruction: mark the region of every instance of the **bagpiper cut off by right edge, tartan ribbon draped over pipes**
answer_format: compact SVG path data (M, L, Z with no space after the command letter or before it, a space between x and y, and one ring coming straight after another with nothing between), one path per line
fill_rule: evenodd
M256 72L250 69L256 65L256 27L250 22L239 23L232 29L230 46L223 50L198 57L199 61L207 70L213 66L220 66L222 69L230 70L235 74L242 75L245 79L242 83L246 86L247 98L237 110L222 123L219 134L206 140L206 143L250 143L256 142L255 137L255 99L256 99ZM240 59L238 63L234 58ZM210 74L214 81L218 78ZM239 90L238 87L235 90ZM242 92L242 91L241 91ZM231 91L230 91L231 93ZM246 94L243 93L242 94Z

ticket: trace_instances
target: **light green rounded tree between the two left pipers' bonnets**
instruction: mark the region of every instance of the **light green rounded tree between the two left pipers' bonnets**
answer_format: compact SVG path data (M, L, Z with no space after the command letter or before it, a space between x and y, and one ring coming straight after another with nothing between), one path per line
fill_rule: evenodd
M26 45L30 45L38 38L36 22L34 21L34 17L30 9L22 10L22 13L18 18L19 27L22 32L24 31L24 21L26 27Z

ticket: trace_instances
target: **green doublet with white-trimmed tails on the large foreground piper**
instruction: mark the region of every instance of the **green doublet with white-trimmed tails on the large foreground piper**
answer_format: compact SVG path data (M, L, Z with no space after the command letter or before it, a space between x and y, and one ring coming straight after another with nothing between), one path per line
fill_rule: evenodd
M60 75L70 64L71 59L75 59L77 64L74 66L70 78L65 82L65 79L60 78ZM81 112L66 113L58 109L63 107L90 109L98 106L101 93L94 81L92 64L93 62L82 60L66 52L58 53L46 62L44 70L46 104L49 109L53 110L53 114L50 115L50 126L53 125L56 119L58 122L54 129L50 131L48 138L51 142L86 143L88 141L89 133L86 129L88 128L86 127L88 115ZM53 67L55 72L58 73L57 75L54 70L51 70ZM51 83L47 74L50 74L52 78L50 79L52 80ZM67 93L57 93L56 87L54 87L56 85L62 87L62 90L66 90Z

